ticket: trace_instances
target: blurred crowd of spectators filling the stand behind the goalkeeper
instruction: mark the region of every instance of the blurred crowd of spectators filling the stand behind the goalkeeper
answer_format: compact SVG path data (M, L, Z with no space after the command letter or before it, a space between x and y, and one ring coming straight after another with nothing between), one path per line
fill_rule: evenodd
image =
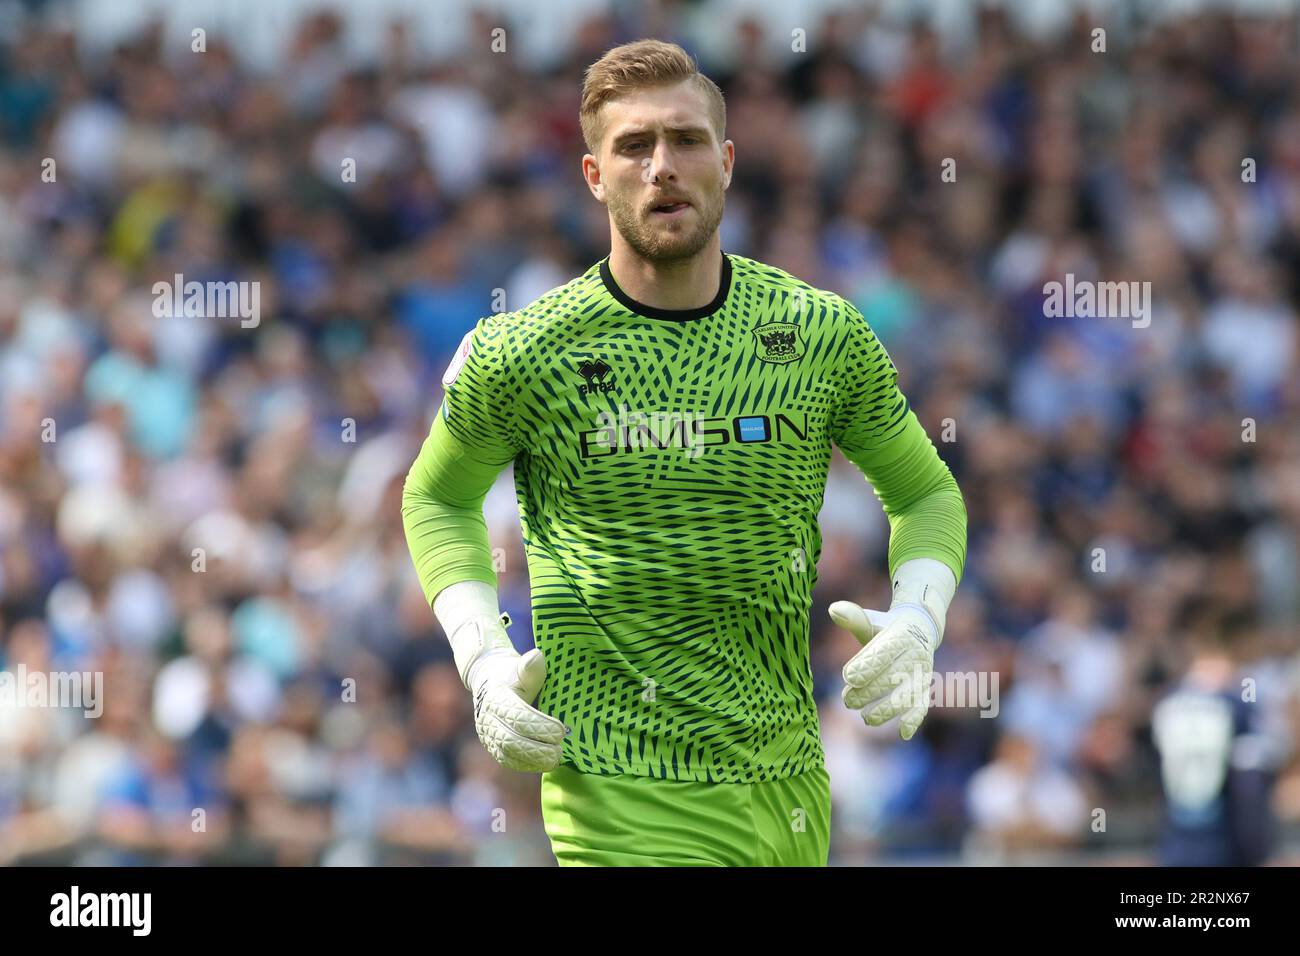
M491 52L512 25L485 13L456 56L394 22L370 62L312 13L270 72L238 35L91 51L39 4L6 21L0 667L105 693L98 719L0 702L0 864L551 862L537 778L474 737L402 481L477 317L608 251L582 70L650 34L716 48L707 8L593 14L545 69ZM1300 21L1190 13L1105 52L1084 17L794 26L806 52L742 18L701 56L737 151L723 248L844 294L889 349L970 515L936 671L997 680L996 715L936 706L909 744L842 708L857 643L826 606L889 581L837 454L811 619L832 861L1150 858L1152 709L1199 630L1257 689L1284 857ZM1149 325L1046 317L1066 273L1149 282ZM257 282L260 321L160 311L177 276ZM510 471L486 512L524 649Z

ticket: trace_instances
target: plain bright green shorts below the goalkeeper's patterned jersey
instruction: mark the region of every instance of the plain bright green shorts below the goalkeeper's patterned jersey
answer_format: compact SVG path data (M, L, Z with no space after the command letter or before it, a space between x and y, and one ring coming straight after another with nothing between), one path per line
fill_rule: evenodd
M694 783L542 774L542 822L560 866L826 866L831 778Z

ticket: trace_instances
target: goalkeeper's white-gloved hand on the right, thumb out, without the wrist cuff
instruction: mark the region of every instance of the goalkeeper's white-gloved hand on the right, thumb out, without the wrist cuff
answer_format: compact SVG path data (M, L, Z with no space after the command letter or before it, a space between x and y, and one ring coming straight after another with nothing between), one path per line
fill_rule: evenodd
M902 717L898 736L911 740L930 710L930 682L941 632L919 605L864 610L852 601L831 605L831 619L864 646L844 666L844 705L872 727Z

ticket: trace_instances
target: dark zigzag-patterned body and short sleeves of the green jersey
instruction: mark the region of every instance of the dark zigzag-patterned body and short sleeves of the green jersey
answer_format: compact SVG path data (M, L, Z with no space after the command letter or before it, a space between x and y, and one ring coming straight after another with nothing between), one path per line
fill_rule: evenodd
M731 261L724 304L689 321L628 311L593 265L481 320L448 389L448 428L506 441L515 460L547 661L538 706L573 728L566 760L584 771L749 783L823 761L807 615L831 440L870 446L906 402L848 303ZM774 321L800 326L800 360L759 358L753 330ZM578 369L597 360L615 388L582 394ZM628 411L766 414L770 428L780 411L806 440L580 454L577 432Z

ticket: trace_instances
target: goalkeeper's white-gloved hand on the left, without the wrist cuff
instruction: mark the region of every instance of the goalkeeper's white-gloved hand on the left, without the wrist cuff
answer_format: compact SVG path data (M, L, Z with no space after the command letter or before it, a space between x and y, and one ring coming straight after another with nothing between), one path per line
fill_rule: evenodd
M532 705L546 682L542 652L534 648L520 656L500 619L472 618L462 627L481 628L473 641L482 652L465 672L478 740L493 760L510 770L554 770L568 728ZM458 632L456 640L462 637Z

